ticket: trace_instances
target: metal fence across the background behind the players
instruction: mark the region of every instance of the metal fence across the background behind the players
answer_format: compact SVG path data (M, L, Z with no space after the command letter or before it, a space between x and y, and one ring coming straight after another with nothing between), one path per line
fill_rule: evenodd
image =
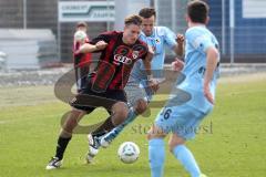
M0 28L51 29L58 37L58 2L60 0L1 0ZM70 0L62 0L70 1ZM91 0L78 0L91 1ZM94 0L96 1L96 0ZM99 0L109 2L112 0ZM115 1L115 0L113 0ZM265 0L206 0L211 7L211 31L217 37L222 62L266 63L266 1ZM188 0L151 0L157 10L157 24L175 32L186 30L185 10ZM61 61L71 62L74 22L61 23ZM113 22L90 22L89 34L113 30Z

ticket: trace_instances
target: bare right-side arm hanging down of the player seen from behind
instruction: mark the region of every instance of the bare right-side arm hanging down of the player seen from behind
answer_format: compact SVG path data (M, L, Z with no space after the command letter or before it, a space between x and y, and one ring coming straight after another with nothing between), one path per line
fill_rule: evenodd
M218 51L214 46L211 46L206 50L206 55L207 55L207 63L206 63L206 71L204 75L204 95L206 98L214 104L214 97L209 91L209 83L213 79L214 71L217 66L218 63Z

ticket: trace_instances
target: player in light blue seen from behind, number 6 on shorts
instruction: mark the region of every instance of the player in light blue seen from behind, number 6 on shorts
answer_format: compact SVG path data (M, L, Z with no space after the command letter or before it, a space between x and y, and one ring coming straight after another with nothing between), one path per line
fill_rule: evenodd
M205 177L185 142L195 136L200 123L213 110L216 80L218 77L218 42L206 28L208 6L201 0L187 4L185 33L185 80L176 85L191 98L181 105L168 104L161 111L149 132L149 158L152 177L163 177L164 137L171 133L170 150L192 177ZM178 95L176 95L178 97ZM170 104L171 102L171 104Z

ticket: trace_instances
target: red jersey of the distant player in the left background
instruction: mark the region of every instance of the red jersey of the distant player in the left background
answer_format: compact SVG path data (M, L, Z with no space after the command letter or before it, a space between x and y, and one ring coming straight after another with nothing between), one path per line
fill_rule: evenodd
M85 43L88 43L90 40L86 37ZM74 67L84 66L91 63L91 53L78 53L78 50L80 49L81 43L73 40L73 59L74 59Z

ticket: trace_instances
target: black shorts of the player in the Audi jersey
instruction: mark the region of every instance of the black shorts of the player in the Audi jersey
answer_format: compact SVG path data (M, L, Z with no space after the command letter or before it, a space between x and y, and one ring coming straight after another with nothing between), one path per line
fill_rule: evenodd
M85 112L92 112L96 107L104 107L111 113L112 106L117 102L126 103L126 94L123 90L108 90L105 92L94 92L89 83L85 88L82 88L80 93L70 102L70 105L74 108Z

